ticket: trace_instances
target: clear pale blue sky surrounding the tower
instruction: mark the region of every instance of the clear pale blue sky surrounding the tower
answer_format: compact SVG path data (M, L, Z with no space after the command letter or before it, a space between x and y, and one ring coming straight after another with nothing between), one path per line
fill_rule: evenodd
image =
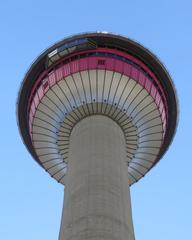
M136 240L191 239L192 2L1 1L0 239L58 238L63 187L22 144L16 98L32 61L75 33L110 31L137 40L169 70L180 103L178 131L160 163L131 188Z

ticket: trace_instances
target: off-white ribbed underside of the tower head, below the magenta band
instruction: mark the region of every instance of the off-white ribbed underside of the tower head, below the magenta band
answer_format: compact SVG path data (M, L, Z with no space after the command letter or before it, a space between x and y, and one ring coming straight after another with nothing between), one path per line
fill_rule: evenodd
M71 130L93 114L108 116L123 129L129 183L138 181L159 153L163 139L161 116L154 99L141 85L106 70L66 77L50 88L38 105L32 139L46 171L64 184Z

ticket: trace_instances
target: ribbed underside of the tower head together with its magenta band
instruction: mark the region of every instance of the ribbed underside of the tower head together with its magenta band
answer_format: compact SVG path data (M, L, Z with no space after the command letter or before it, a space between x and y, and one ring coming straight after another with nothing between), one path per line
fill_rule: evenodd
M119 51L110 52L115 52L115 57L121 55ZM151 79L123 58L90 54L43 73L29 107L33 146L43 167L65 184L73 127L87 116L110 117L125 135L132 184L158 158L167 128L167 102L155 76Z

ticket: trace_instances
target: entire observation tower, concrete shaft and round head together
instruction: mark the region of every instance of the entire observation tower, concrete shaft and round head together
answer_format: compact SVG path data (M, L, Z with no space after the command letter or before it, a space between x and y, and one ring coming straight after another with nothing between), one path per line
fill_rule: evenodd
M170 76L138 43L85 33L42 53L20 89L18 126L65 185L59 240L134 240L129 186L161 159L176 123Z

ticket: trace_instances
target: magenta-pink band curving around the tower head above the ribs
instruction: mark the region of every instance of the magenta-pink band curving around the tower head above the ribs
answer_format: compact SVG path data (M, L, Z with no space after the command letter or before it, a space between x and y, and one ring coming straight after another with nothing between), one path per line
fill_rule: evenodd
M161 114L161 119L163 122L163 130L166 131L166 123L167 123L167 102L159 81L156 76L138 59L134 58L131 55L122 53L118 50L114 49L106 49L100 48L97 50L90 50L87 52L109 52L114 53L116 55L121 55L126 57L127 59L133 61L134 63L141 66L155 81L156 84L153 84L151 79L146 76L146 74L138 69L136 66L133 66L127 62L123 62L121 60L109 57L101 57L101 56L89 56L80 59L76 59L69 63L62 63L63 59L57 64L51 65L50 68L46 69L37 79L32 93L29 98L29 130L30 134L32 131L32 122L37 109L37 106L41 102L41 99L45 95L45 93L51 88L56 82L62 80L63 78L74 74L76 72L92 70L92 69L105 69L109 71L119 72L123 75L126 75L133 80L137 81L142 87L146 89L146 91L153 97L156 105L158 106L159 112ZM82 54L82 52L81 52ZM70 57L72 57L70 55ZM66 58L65 58L66 60ZM40 84L41 83L41 84ZM39 86L40 84L40 86ZM160 91L158 91L157 87ZM39 86L37 88L37 86Z

